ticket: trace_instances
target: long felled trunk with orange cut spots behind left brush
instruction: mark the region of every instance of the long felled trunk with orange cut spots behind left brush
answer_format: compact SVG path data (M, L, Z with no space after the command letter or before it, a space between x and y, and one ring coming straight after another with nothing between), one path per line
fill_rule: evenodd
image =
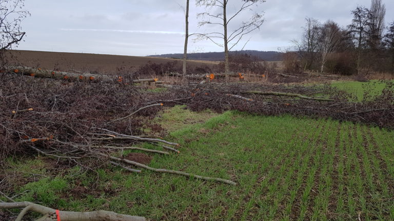
M52 70L45 70L41 68L30 68L30 67L11 67L9 68L8 72L32 76L32 77L53 78L53 79L63 79L63 80L120 81L122 79L122 77L119 76L97 75L90 73L70 73L70 72L52 71ZM133 80L132 82L133 83L155 82L157 80L159 79L157 78L136 79Z

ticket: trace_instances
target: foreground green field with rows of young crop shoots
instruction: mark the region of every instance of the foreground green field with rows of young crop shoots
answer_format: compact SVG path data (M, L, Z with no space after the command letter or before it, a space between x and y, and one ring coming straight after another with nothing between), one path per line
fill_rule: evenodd
M16 185L17 192L30 190L17 200L150 220L394 220L393 131L238 112L185 125L193 114L181 106L162 114L167 123L181 122L170 133L182 144L181 154L154 155L149 166L217 176L238 186L119 168L91 174L74 167L52 179ZM87 191L77 193L77 187Z

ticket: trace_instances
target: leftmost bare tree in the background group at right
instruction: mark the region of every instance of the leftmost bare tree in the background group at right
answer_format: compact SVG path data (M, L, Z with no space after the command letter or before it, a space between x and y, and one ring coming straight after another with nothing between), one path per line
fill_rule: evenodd
M305 27L301 41L292 40L304 60L304 71L310 70L318 53L320 22L317 19L305 18Z

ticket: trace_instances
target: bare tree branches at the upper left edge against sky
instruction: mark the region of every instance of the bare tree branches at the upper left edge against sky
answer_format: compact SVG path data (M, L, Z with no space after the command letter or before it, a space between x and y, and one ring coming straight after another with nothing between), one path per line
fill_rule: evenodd
M30 15L24 10L24 0L0 1L0 68L6 65L6 51L17 46L25 36L21 23Z

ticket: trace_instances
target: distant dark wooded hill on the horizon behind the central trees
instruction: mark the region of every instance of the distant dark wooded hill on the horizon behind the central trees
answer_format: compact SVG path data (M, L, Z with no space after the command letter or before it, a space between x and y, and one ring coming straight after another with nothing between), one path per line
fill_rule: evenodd
M279 61L282 60L282 53L275 51L233 51L231 54L248 54L251 56L257 56L261 60L265 61ZM149 55L149 57L161 57L161 58L177 58L182 59L183 54L162 54L162 55ZM224 52L204 52L204 53L189 53L187 54L189 60L209 60L209 61L223 61Z

